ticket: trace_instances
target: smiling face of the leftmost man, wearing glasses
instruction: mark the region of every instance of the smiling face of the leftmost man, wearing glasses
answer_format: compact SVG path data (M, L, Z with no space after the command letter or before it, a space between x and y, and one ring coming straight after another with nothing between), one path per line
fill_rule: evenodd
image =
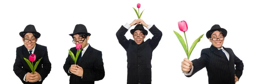
M25 40L30 40L28 42L25 42ZM34 41L32 41L34 40ZM26 33L26 35L24 35L24 38L22 38L22 41L24 42L24 46L27 48L27 49L33 49L35 47L35 43L38 39L35 38L35 36L32 34L32 33ZM32 41L32 42L31 42Z

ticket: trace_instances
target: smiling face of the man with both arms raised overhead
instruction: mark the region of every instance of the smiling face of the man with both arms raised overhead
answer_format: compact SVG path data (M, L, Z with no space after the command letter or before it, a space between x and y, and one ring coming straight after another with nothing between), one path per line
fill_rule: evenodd
M143 35L143 33L140 30L136 30L133 34L134 41L139 45L144 41L144 38L146 35Z

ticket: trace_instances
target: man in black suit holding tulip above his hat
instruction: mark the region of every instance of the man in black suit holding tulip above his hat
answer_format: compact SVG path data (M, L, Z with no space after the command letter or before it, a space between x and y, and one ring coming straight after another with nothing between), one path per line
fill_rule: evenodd
M130 31L134 40L127 40L125 33L134 25L135 28ZM148 31L143 26L154 35L145 42L144 38ZM143 20L137 19L131 24L126 23L125 26L121 26L116 32L116 37L127 52L127 84L151 84L152 52L161 40L162 32L155 25L148 25Z

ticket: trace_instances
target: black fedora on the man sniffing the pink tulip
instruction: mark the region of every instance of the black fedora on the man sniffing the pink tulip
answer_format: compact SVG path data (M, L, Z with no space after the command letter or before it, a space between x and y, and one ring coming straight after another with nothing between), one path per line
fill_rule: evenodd
M77 24L75 26L73 34L69 34L70 36L73 36L77 33L85 33L86 35L90 36L90 33L87 32L86 27L83 24Z

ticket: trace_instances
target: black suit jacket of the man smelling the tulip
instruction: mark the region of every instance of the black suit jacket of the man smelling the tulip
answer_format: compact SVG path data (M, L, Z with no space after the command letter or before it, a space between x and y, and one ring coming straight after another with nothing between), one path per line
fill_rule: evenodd
M70 49L76 56L76 47ZM83 77L69 73L70 66L75 64L71 56L68 55L63 66L64 71L70 76L70 84L94 84L94 81L102 80L105 76L105 70L102 61L102 52L88 46L78 65L83 68Z

